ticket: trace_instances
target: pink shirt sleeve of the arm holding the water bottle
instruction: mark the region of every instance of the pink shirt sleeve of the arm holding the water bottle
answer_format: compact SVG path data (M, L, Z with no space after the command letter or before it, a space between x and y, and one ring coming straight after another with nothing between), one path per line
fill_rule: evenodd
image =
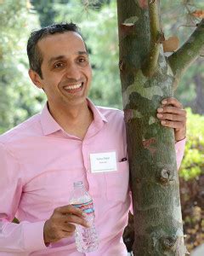
M0 252L31 253L47 248L43 240L44 221L12 223L23 191L20 171L15 155L0 143Z

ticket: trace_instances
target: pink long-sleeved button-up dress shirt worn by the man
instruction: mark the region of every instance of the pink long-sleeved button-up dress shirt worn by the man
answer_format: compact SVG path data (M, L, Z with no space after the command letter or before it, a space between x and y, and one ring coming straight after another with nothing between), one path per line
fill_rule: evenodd
M131 197L123 113L95 107L83 140L65 133L47 106L0 137L0 255L127 256L122 234ZM176 144L178 166L184 141ZM116 151L117 172L92 173L89 155ZM78 253L74 237L46 247L43 225L54 208L69 204L73 182L82 180L94 199L99 250ZM11 223L14 216L20 224Z

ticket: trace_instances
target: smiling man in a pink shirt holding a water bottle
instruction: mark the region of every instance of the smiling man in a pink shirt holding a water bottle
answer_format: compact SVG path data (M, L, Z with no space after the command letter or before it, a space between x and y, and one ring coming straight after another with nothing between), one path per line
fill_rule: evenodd
M75 224L88 224L69 205L79 180L94 198L99 234L99 249L88 255L127 255L122 233L131 199L122 111L88 100L92 71L76 25L32 32L27 53L30 78L48 102L42 113L0 137L0 255L85 255L77 252L73 232ZM183 152L181 104L167 99L159 113L165 125L176 128L176 148ZM100 164L99 170L94 160L105 155L110 165ZM20 224L11 223L14 216Z

